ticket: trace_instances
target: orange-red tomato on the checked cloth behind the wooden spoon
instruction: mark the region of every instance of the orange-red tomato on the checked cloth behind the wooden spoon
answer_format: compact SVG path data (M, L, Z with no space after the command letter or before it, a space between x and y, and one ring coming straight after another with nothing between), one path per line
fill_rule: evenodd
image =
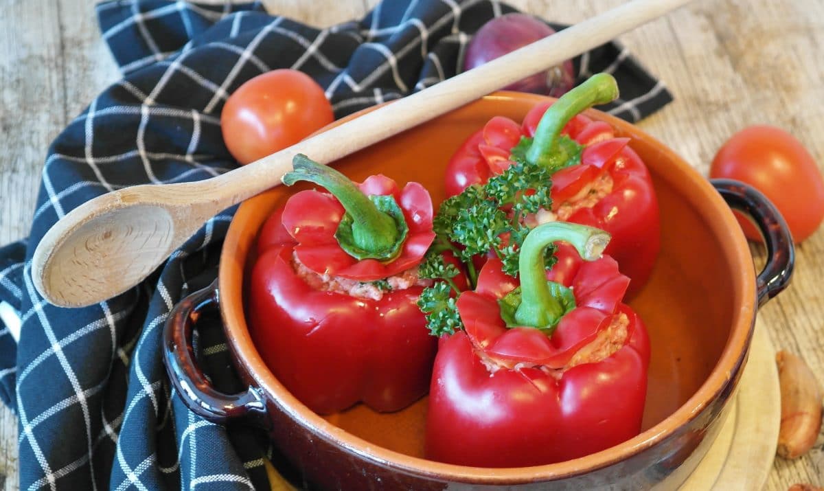
M283 150L335 119L323 89L307 74L280 69L241 85L223 106L226 147L241 164Z

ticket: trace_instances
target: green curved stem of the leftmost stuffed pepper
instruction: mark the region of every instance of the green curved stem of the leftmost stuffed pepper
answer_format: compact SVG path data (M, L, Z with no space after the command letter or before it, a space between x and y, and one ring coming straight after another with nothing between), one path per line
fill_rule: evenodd
M283 184L291 186L299 180L307 180L335 195L353 218L353 240L360 249L377 253L396 245L400 237L396 222L388 213L377 209L349 178L301 153L294 157L292 165L293 171L281 178Z

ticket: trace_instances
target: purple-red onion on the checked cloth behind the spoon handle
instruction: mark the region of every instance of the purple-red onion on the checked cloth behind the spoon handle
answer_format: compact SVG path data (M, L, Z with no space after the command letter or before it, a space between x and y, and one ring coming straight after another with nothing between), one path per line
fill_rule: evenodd
M470 41L466 49L463 71L466 72L552 34L555 34L555 30L527 14L513 12L496 17L482 26ZM545 72L523 78L503 89L559 97L574 87L574 83L572 61L566 60Z

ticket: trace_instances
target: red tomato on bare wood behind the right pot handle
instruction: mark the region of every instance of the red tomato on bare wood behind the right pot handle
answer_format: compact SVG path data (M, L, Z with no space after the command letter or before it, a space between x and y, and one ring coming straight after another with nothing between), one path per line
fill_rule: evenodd
M793 135L758 125L733 135L715 155L710 177L740 180L761 191L784 216L795 242L824 219L824 180L816 161ZM738 217L745 235L761 241L751 222Z

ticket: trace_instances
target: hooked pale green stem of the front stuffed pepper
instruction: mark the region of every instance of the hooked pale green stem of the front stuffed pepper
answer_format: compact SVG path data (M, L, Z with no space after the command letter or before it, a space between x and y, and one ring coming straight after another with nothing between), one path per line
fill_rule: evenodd
M556 241L569 242L584 260L601 257L610 241L606 231L567 222L549 222L533 228L518 255L521 278L521 305L515 311L519 325L543 328L555 324L564 315L564 307L550 292L546 280L544 249Z

